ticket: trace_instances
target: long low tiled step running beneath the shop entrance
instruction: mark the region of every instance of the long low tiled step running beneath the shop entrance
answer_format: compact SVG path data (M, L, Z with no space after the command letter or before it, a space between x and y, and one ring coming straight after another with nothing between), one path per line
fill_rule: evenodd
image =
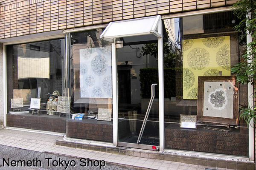
M241 161L241 159L212 159L206 158L202 156L198 156L196 154L185 155L179 153L173 153L168 150L164 152L159 152L156 150L143 150L129 147L112 147L112 146L101 146L97 144L87 144L80 143L74 141L65 141L65 140L56 140L56 145L66 146L66 147L74 147L85 150L94 150L105 153L113 153L119 155L127 155L127 156L135 156L140 158L149 158L149 159L159 159L173 162L180 162L185 164L193 164L193 165L201 165L207 167L215 167L218 168L226 168L233 169L232 167L236 167L236 170L249 170L253 168L254 170L254 162L252 161Z

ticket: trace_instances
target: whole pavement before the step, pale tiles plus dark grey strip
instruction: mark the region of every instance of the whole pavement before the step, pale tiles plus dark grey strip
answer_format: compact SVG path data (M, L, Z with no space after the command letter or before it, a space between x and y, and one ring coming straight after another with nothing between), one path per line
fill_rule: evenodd
M13 161L13 165L17 164L17 160L25 160L26 164L28 165L33 164L37 161L37 168L41 170L65 170L68 161L69 166L66 168L68 170L96 170L100 169L100 164L102 164L102 170L205 170L205 168L216 169L216 167L204 167L201 165L183 164L180 162L147 159L134 156L117 155L113 153L104 153L92 150L58 146L55 144L56 139L63 139L63 134L44 134L40 132L35 133L21 130L0 129L0 169L7 169L6 163L9 163L8 158L10 158L8 169L14 170L23 170L23 168L24 170L29 169L29 166L12 167L12 160L15 160ZM3 161L3 159L5 159L5 161ZM106 162L106 166L103 167L104 161ZM5 167L3 167L3 163L5 164ZM89 167L87 166L88 163L90 164ZM91 166L92 163L93 166ZM73 166L74 164L76 164L76 166Z

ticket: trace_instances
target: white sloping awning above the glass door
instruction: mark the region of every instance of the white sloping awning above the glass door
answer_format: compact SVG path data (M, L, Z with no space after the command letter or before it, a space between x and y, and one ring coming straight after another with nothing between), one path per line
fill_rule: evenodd
M145 42L162 37L157 31L161 16L143 17L131 20L114 21L100 35L101 39L113 42L113 38L120 38L124 43Z

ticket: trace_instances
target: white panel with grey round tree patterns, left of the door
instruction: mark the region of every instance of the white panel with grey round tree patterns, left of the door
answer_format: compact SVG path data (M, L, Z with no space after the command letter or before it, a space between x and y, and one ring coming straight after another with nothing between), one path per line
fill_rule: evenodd
M81 98L112 98L111 46L83 48L79 56Z

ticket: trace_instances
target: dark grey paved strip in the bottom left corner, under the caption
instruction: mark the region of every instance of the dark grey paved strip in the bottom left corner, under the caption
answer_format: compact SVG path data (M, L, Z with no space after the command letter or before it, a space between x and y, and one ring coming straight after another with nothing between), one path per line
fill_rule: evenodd
M135 170L124 166L108 164L104 161L25 150L0 145L0 170ZM18 162L17 160L20 160ZM22 161L22 162L21 162Z

